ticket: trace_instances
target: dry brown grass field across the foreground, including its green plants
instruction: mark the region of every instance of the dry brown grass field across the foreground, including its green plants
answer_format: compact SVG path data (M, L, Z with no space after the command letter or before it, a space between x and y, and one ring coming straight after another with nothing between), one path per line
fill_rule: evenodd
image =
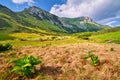
M119 80L119 48L117 44L87 42L14 47L8 54L0 54L0 79Z

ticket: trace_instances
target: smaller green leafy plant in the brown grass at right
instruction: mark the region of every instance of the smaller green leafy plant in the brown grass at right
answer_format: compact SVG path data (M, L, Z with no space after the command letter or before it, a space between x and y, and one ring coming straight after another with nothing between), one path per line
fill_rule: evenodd
M88 58L90 58L91 64L93 66L98 66L99 65L100 60L99 60L98 56L92 55L90 52L88 52L88 54L85 56L85 59L88 59Z

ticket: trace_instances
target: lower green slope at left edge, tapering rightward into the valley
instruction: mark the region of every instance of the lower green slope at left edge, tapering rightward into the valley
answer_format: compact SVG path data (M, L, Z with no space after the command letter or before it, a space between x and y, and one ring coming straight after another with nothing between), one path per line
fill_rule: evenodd
M11 32L39 32L48 33L44 30L38 28L31 28L30 26L24 26L18 23L13 17L0 13L0 32L11 33ZM52 33L52 32L51 32ZM49 34L49 33L48 33Z

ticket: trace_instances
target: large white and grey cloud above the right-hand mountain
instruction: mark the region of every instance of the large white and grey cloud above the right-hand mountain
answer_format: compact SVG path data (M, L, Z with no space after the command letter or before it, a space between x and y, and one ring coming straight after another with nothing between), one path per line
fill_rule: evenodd
M120 16L119 0L67 0L65 4L54 5L50 13L60 17L89 16L95 21Z

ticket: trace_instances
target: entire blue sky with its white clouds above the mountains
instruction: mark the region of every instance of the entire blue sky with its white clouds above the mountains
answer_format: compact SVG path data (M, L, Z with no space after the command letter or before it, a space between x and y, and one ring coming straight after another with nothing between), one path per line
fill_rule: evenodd
M0 4L18 12L37 6L59 17L89 16L103 25L120 25L120 0L0 0Z

